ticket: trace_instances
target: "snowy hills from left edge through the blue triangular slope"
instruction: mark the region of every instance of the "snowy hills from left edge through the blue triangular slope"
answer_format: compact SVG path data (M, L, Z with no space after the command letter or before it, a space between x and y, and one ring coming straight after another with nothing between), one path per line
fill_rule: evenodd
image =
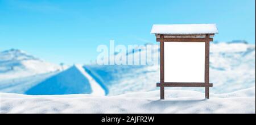
M81 65L51 64L18 49L0 53L0 91L20 94L106 95L108 88L98 84Z

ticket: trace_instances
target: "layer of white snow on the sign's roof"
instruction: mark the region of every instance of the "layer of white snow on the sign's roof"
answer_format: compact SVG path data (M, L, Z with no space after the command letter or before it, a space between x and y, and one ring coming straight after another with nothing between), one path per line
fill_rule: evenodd
M196 35L218 34L216 24L154 24L151 34Z

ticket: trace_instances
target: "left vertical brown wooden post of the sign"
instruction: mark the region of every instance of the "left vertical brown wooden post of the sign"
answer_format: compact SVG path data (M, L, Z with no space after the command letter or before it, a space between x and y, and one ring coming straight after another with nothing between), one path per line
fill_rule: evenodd
M160 99L164 99L164 36L160 35Z

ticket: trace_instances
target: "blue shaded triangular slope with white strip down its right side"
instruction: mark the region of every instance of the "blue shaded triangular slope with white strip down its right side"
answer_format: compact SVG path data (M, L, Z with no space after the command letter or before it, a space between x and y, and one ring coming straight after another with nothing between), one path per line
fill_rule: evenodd
M55 76L28 89L25 94L56 95L56 94L93 94L105 95L105 90L89 76L80 65L74 65Z

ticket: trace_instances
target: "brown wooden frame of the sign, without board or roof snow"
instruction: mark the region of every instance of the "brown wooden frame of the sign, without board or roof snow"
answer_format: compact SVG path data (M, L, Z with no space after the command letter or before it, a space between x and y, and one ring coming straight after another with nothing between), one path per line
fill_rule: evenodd
M205 87L205 98L209 99L209 47L213 41L214 34L189 34L189 35L164 35L156 34L156 41L160 42L160 99L164 99L164 87ZM165 42L204 42L205 43L205 65L204 82L164 82L164 43Z

